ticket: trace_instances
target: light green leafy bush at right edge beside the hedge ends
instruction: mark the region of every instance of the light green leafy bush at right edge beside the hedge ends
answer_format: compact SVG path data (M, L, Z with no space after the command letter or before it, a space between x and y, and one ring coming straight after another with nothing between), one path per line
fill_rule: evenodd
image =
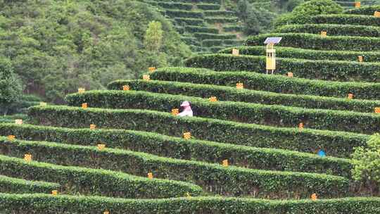
M379 194L380 184L380 134L374 134L365 147L353 153L353 178L362 181L372 194Z

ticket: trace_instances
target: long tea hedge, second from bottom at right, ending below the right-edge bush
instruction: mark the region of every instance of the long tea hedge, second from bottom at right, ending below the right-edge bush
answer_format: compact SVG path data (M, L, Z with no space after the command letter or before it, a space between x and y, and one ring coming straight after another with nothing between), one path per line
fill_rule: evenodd
M347 179L331 175L251 170L234 166L225 168L222 165L162 158L147 153L116 149L99 151L96 147L52 142L8 142L6 138L0 141L1 148L5 151L3 154L7 156L22 156L25 152L30 152L37 157L36 160L49 163L102 168L139 176L153 172L158 178L195 183L213 194L226 196L308 198L310 191L314 191L320 197L334 197L345 196L348 191Z

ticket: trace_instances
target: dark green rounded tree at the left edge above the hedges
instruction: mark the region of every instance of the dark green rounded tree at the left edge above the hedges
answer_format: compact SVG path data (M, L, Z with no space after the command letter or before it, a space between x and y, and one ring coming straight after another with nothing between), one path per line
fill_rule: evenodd
M6 115L11 104L20 99L23 92L18 76L8 58L0 57L0 111Z

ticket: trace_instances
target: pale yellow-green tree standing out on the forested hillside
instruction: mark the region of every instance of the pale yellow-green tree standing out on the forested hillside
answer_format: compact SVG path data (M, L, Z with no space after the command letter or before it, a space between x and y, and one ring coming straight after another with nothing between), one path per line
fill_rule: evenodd
M151 21L146 29L144 45L148 51L157 53L163 44L163 26L160 22Z

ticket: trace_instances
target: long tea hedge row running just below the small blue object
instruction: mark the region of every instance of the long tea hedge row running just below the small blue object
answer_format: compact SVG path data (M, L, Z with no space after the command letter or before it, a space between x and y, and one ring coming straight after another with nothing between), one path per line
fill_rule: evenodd
M17 134L15 134L17 133ZM319 172L350 177L350 161L330 156L319 158L314 154L262 149L213 141L182 139L153 132L132 130L74 130L61 127L35 125L0 125L1 135L15 134L17 139L57 141L65 144L96 145L105 142L107 148L127 149L152 153L157 156L185 160L201 160L208 163L222 163L229 160L231 165L261 170L290 170L297 172ZM139 144L136 144L139 142ZM260 146L260 145L259 145ZM277 146L276 144L268 146ZM303 146L299 142L288 142L289 149ZM284 147L282 146L282 147ZM328 153L328 155L330 155Z

